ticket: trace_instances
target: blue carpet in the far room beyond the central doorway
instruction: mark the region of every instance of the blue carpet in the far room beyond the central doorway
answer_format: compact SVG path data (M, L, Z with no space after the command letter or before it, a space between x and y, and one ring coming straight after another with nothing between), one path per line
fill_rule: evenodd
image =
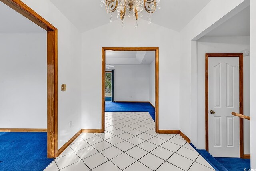
M150 103L106 102L106 112L149 112L155 121L155 109Z

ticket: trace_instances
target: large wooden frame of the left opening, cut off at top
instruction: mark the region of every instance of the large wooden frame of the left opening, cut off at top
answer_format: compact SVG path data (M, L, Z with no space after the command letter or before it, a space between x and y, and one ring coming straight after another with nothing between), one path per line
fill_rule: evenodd
M47 31L47 157L58 156L58 31L20 0L0 0Z

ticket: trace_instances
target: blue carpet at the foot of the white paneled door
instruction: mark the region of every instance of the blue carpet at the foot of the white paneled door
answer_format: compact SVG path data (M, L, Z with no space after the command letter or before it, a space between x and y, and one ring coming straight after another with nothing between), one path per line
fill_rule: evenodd
M215 157L228 171L244 171L251 168L250 159Z

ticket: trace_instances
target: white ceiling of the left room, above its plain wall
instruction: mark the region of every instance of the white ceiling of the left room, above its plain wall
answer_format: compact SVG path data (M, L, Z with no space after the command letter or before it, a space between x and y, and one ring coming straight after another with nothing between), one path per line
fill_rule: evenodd
M46 33L40 26L3 2L0 2L0 16L0 33Z

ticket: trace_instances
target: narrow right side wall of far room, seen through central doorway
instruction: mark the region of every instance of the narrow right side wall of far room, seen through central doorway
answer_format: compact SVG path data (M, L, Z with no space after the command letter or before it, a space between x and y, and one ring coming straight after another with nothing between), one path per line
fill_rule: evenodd
M154 60L150 65L149 65L149 102L155 106L155 66L156 66L156 60Z

